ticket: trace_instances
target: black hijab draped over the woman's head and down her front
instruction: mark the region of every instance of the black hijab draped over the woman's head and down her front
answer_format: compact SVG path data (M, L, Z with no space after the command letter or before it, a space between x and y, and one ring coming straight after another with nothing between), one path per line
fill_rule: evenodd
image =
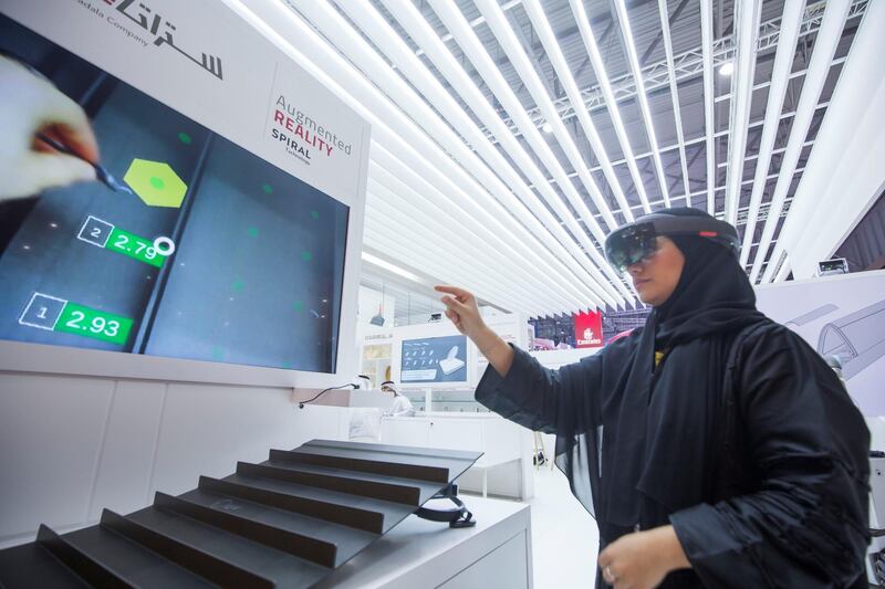
M709 217L698 209L670 209L662 211L674 215ZM611 407L603 407L604 431L575 432L574 437L558 440L558 464L572 482L572 490L587 509L600 519L603 537L610 539L624 533L642 519L643 496L650 496L658 504L668 503L668 496L684 495L686 488L647 488L646 481L659 474L657 469L673 465L658 464L660 454L669 446L666 437L673 431L657 431L654 417L649 416L652 388L655 371L655 351L664 351L697 340L712 334L739 332L743 327L764 319L756 309L756 295L747 275L741 270L733 253L726 246L709 239L695 235L674 235L670 238L685 256L679 282L670 297L653 309L645 326L632 337L638 343L632 356L615 358L617 366L610 369L620 374L617 389ZM708 346L698 348L695 364L685 366L681 378L705 380L705 387L716 387L722 382L725 366L721 354ZM722 364L722 366L718 366ZM669 379L668 379L669 380ZM673 391L660 390L670 386L662 382L655 387L655 396ZM680 386L686 386L683 382ZM690 385L688 385L690 387ZM615 391L616 392L616 391ZM688 421L696 419L689 416ZM697 419L701 419L699 416ZM650 431L649 431L650 430ZM662 440L662 438L665 438ZM601 465L594 460L600 456ZM670 462L670 461L666 461ZM594 487L580 484L577 472L591 464L586 475ZM598 472L594 472L597 471ZM577 484L576 484L577 483ZM688 486L694 481L674 483ZM597 507L597 508L594 508Z

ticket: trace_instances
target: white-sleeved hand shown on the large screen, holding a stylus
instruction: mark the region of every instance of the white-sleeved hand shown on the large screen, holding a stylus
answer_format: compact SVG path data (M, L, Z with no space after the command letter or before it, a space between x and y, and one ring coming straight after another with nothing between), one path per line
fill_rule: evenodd
M0 55L0 200L95 180L98 145L86 114L48 80ZM65 146L61 152L38 138Z

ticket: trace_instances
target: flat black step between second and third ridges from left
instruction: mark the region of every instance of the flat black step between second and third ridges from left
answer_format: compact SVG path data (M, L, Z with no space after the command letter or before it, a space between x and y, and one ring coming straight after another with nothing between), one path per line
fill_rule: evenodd
M278 587L310 587L332 570L156 505L126 518L256 577L269 579Z

